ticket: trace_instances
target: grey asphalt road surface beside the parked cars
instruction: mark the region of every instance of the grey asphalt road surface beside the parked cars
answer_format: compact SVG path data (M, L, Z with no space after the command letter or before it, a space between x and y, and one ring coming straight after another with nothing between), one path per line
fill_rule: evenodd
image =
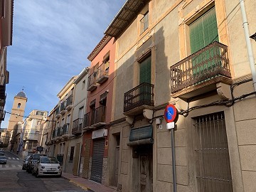
M22 170L23 161L6 151L7 164L0 164L0 191L85 191L70 183L66 178L53 176L36 178Z

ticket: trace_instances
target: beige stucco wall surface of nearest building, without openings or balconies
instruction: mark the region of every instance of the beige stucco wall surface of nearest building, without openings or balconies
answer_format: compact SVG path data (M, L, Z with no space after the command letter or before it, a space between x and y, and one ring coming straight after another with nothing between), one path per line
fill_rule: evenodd
M154 80L155 106L162 105L170 100L170 70L169 67L179 60L190 55L188 41L188 23L203 9L209 8L213 1L152 1L151 2L151 25L145 36L138 36L137 23L135 20L129 28L117 40L117 78L114 84L114 113L113 119L117 120L124 115L123 100L124 92L138 85L136 50L151 36L152 41L152 79ZM215 1L216 15L218 20L218 32L220 43L228 46L231 72L234 82L251 78L250 65L245 45L245 35L242 28L242 16L239 1ZM245 1L247 18L250 23L250 33L255 33L256 4L253 0ZM252 49L256 57L256 43L252 41ZM132 78L131 78L132 77ZM240 78L240 79L237 79ZM252 82L235 87L234 96L238 97L252 92ZM220 100L217 92L210 97L201 98L191 102L189 107L208 104ZM121 105L122 104L122 105ZM186 110L188 103L176 99L178 110ZM212 112L225 114L228 147L230 153L230 167L233 177L234 191L255 190L256 161L254 156L256 149L256 99L255 96L235 102L233 107L214 106L192 111L188 117L180 116L177 130L175 131L176 150L176 179L178 191L196 191L193 147L191 145L191 118ZM154 115L162 115L164 110L157 111ZM146 122L136 122L134 127L142 126ZM171 167L171 139L170 132L166 130L165 122L163 129L157 129L154 125L154 191L171 191L172 167ZM120 132L122 148L119 163L119 181L122 191L132 191L132 149L127 146L130 127L126 122L114 125L110 134ZM110 137L111 142L111 137ZM110 143L111 144L111 143ZM110 151L110 156L112 153ZM127 182L129 181L129 182Z

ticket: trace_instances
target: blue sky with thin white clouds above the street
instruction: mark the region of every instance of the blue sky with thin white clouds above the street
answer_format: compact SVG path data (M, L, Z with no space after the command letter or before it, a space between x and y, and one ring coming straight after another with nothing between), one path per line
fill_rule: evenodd
M73 75L90 66L87 56L104 36L125 0L16 0L12 46L7 48L6 105L26 93L25 114L50 112ZM8 127L9 114L1 122Z

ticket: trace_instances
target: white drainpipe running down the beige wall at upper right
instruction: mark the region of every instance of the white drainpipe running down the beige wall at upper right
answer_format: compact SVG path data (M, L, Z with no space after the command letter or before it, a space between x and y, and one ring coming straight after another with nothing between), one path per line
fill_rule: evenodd
M246 41L247 52L248 52L248 57L249 57L249 62L250 62L250 68L252 70L252 85L253 85L254 90L256 92L255 60L253 58L253 53L252 53L252 44L250 43L248 21L247 21L247 16L246 16L246 11L245 11L245 1L244 0L239 0L239 3L240 3L240 9L241 9L241 12L242 12L242 26L243 26L244 31L245 31L245 41Z

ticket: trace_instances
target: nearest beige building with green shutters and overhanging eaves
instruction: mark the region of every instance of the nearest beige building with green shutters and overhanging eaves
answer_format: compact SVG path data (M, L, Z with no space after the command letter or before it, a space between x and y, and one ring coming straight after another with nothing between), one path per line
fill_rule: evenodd
M242 4L252 35L252 0L122 6L105 31L116 53L103 183L129 192L255 190L255 66L247 45L255 57L256 43L245 38ZM174 166L168 104L178 110Z

